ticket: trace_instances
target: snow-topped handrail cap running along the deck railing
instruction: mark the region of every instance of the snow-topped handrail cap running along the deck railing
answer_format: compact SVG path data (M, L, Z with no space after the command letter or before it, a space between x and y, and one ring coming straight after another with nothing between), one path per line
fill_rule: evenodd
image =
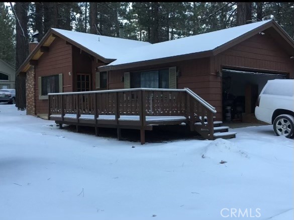
M183 89L170 89L170 88L124 88L124 89L111 89L111 90L99 90L99 91L83 91L83 92L59 92L59 93L48 93L48 95L69 95L69 94L88 94L88 93L104 93L104 92L125 92L125 91L185 91L193 98L202 103L211 112L216 113L216 108L204 100L199 95L195 94L189 88Z

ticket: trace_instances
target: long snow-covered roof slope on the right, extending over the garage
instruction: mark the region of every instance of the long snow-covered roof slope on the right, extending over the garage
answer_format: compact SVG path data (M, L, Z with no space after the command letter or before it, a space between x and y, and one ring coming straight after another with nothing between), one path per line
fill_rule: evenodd
M149 44L137 48L130 48L123 53L123 56L120 56L117 60L106 66L214 50L270 21L272 20L251 23L156 44Z

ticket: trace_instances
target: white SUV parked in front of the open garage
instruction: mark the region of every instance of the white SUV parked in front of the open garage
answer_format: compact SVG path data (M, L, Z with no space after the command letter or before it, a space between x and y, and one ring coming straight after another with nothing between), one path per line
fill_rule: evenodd
M273 124L277 136L294 136L294 79L268 80L260 92L255 117Z

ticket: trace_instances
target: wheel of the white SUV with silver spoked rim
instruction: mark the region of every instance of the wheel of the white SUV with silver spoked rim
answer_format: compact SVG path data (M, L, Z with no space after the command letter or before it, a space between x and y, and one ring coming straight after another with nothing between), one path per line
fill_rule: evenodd
M294 117L290 115L279 115L273 121L273 131L276 136L285 136L293 138L294 135Z

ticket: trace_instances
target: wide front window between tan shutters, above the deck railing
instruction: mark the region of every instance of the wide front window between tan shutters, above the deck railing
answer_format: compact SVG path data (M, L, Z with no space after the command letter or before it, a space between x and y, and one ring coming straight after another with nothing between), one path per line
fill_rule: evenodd
M169 88L169 69L131 73L131 88Z

